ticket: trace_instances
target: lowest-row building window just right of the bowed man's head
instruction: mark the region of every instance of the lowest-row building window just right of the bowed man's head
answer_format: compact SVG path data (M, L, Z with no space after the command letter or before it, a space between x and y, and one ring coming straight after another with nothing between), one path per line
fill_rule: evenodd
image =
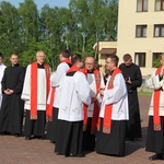
M145 67L145 52L136 52L134 63L139 67Z

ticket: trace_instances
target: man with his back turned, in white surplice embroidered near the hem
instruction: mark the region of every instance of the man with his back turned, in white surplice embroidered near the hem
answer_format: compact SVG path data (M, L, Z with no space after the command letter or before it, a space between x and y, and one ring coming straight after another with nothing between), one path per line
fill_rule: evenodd
M71 57L72 67L63 77L60 90L59 125L55 152L65 156L83 157L82 138L86 128L86 110L83 105L91 104L90 86L82 67L81 55Z

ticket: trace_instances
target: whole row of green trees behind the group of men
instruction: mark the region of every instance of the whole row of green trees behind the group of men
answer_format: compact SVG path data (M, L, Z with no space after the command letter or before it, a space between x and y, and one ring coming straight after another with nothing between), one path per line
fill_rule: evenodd
M2 1L0 9L0 51L7 58L17 52L23 66L44 50L55 70L62 49L85 57L94 55L93 45L107 35L117 38L118 0L70 0L69 8L45 4L39 12L34 0L24 0L17 9Z

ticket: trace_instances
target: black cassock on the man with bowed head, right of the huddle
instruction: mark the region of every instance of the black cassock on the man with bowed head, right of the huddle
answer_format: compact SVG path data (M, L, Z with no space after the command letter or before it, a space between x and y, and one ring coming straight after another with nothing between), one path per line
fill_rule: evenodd
M142 84L142 74L139 66L134 63L128 67L121 63L119 68L122 71L125 80L127 81L128 78L131 80L131 84L127 83L129 120L127 121L126 137L129 139L141 138L141 120L137 87Z

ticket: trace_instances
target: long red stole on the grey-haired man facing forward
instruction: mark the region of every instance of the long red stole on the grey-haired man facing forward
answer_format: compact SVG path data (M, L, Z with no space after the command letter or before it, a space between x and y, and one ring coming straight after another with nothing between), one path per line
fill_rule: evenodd
M50 68L44 65L46 71L46 98L50 89ZM46 106L47 109L47 106ZM31 119L37 119L37 61L31 65Z

